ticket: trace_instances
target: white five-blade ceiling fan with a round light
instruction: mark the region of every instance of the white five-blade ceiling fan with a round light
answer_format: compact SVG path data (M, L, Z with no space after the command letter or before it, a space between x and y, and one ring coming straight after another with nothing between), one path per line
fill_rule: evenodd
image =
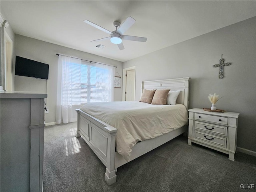
M93 27L95 27L95 28L97 28L97 29L99 29L99 30L102 30L103 32L106 32L107 34L110 34L109 37L93 40L91 42L110 39L110 41L113 44L117 44L117 46L120 50L123 50L124 45L122 43L122 40L140 41L140 42L146 42L146 40L147 40L146 37L136 37L136 36L124 35L126 30L128 30L136 22L134 20L134 18L132 18L130 16L128 16L128 18L123 22L123 24L121 26L120 26L120 22L114 21L113 24L116 27L116 30L114 30L112 32L110 32L109 30L106 30L103 27L98 26L98 25L96 25L93 22L90 22L88 20L84 20L84 22L93 26Z

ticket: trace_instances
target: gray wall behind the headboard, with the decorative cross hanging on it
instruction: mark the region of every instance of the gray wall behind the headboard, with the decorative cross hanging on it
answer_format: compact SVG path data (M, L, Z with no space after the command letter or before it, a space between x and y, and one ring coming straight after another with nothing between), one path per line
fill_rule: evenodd
M136 66L136 100L140 81L191 77L189 108L210 108L209 93L224 96L216 107L239 112L237 144L256 151L256 18L215 30L145 56L124 62ZM224 78L219 79L223 54Z

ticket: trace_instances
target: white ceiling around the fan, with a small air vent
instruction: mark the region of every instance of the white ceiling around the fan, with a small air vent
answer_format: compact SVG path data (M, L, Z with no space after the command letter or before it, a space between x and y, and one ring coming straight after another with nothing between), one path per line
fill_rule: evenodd
M154 52L173 44L256 16L255 1L4 1L1 11L14 33L118 61ZM114 31L113 22L131 16L136 23L125 35L124 50L110 43L90 42L109 36L86 24L89 20ZM97 43L106 46L97 48Z

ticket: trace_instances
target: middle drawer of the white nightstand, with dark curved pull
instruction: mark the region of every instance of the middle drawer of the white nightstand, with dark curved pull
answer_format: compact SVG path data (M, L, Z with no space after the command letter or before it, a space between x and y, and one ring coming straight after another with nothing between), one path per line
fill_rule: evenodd
M195 129L226 137L228 128L225 126L195 121Z

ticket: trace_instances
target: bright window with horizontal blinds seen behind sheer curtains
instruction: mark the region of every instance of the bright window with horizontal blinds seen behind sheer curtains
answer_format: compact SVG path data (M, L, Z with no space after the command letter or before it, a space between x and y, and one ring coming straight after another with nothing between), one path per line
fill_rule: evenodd
M66 78L69 83L64 87L64 92L70 92L70 99L62 100L66 105L80 105L88 102L112 101L112 67L94 66L88 63L70 63L67 66L62 81ZM68 76L68 77L67 77ZM66 103L65 103L66 102Z

